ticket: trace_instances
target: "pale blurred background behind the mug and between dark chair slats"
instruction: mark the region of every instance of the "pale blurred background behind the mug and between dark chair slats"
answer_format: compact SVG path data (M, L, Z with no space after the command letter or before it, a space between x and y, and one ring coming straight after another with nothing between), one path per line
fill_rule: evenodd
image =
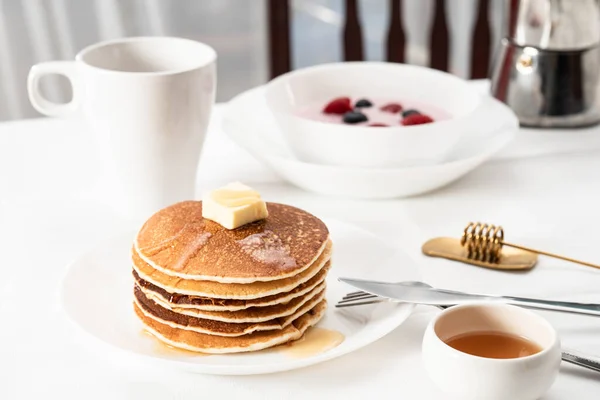
M406 61L427 65L435 0L404 0ZM291 1L292 66L342 59L343 0ZM449 69L469 76L477 0L447 0ZM360 0L365 57L383 60L387 0ZM27 99L29 68L69 60L92 43L125 36L168 35L203 41L218 52L217 101L269 77L266 0L0 0L0 120L38 116ZM492 50L504 35L506 1L490 1ZM70 97L60 77L42 83L54 101Z

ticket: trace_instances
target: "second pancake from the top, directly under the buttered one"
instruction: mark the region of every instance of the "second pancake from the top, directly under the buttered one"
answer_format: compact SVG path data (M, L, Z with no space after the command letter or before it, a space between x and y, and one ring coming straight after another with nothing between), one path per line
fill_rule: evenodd
M145 263L137 253L132 252L133 269L140 278L167 292L218 299L248 300L288 293L317 275L331 258L331 241L327 241L324 251L309 268L296 276L268 282L220 283L213 281L187 280L167 275Z

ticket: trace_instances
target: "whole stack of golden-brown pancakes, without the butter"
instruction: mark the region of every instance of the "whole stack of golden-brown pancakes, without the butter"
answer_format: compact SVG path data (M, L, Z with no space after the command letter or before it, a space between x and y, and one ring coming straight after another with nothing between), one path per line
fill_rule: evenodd
M154 214L132 249L134 309L168 345L204 353L297 340L325 313L329 231L300 209L228 230L187 201Z

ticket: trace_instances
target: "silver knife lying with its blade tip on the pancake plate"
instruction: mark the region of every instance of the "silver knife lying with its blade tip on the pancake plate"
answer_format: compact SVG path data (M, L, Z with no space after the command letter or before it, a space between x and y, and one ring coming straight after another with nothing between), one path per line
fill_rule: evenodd
M488 301L513 304L538 310L600 316L600 304L594 303L576 303L570 301L530 299L525 297L462 293L452 290L415 286L414 284L404 284L403 282L378 282L352 278L338 279L340 282L347 283L348 285L373 295L404 303L449 306L472 303L475 301Z

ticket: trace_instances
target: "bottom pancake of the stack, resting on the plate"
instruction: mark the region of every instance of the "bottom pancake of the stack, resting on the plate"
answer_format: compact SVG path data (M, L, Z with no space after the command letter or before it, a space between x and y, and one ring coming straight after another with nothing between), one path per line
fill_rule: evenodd
M298 340L309 327L321 320L326 308L327 301L322 300L284 329L225 337L173 328L146 316L140 307L134 304L135 313L145 325L145 329L162 342L180 349L210 354L257 351Z

